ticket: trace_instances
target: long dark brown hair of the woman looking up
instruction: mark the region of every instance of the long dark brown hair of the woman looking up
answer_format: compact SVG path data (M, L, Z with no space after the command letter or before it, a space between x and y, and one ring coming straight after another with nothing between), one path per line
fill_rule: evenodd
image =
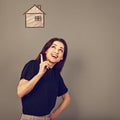
M68 52L68 47L67 47L66 41L64 39L62 39L62 38L52 38L52 39L50 39L44 45L41 52L37 56L36 60L40 60L40 54L43 55L43 60L46 60L45 52L50 48L50 46L53 44L54 41L59 41L59 42L63 43L63 45L64 45L63 59L60 62L56 63L55 66L54 66L59 72L61 72L61 70L62 70L62 68L63 68L63 66L65 64L65 61L66 61L66 58L67 58L67 52Z

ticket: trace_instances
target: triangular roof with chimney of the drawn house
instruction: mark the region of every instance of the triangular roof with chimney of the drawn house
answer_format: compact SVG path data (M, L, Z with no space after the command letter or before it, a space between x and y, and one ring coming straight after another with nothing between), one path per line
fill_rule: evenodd
M41 10L40 5L33 5L30 9L28 9L24 14L31 14L31 13L40 13L45 14L44 11Z

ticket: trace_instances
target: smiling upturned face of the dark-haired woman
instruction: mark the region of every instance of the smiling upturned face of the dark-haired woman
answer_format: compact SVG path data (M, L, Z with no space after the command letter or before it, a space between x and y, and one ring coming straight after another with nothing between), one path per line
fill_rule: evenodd
M57 62L63 59L64 44L59 41L54 41L45 53L46 60L50 63L56 64Z

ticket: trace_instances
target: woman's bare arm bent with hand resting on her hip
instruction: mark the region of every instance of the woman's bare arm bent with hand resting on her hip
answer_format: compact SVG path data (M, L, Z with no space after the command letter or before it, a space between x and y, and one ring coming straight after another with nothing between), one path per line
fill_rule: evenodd
M50 114L50 120L54 120L70 103L70 95L69 93L65 93L62 96L62 102L60 105Z

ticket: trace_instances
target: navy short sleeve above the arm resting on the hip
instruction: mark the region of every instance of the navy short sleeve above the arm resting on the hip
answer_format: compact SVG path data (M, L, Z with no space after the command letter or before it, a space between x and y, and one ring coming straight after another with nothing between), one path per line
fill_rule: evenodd
M58 89L58 97L62 96L63 94L65 94L68 91L68 88L66 87L62 76L59 74L58 76L59 78L59 89Z

